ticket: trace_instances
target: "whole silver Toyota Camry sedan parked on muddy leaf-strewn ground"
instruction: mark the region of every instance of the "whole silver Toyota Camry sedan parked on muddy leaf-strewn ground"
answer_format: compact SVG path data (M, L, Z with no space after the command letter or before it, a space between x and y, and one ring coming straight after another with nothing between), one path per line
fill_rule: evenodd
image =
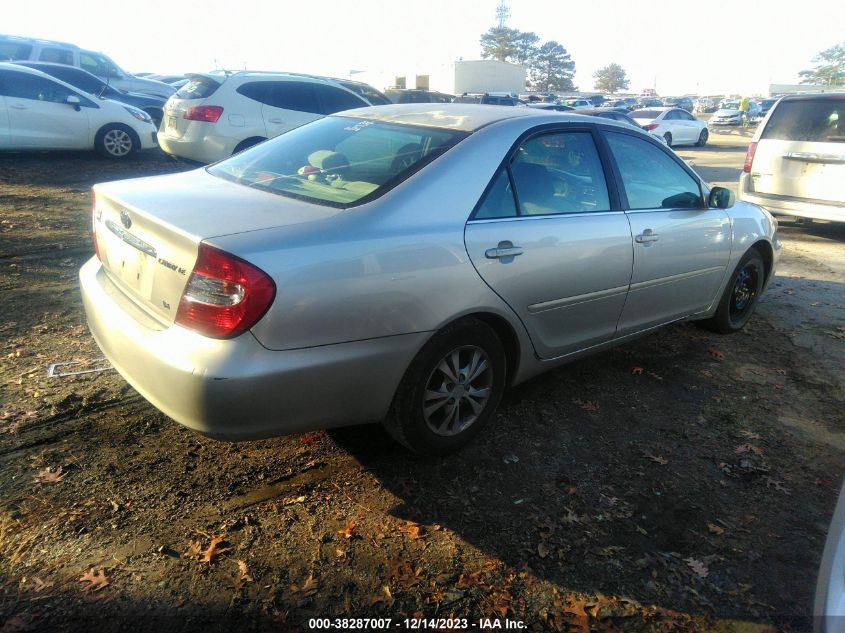
M508 384L679 319L741 329L779 253L643 131L532 108L363 108L94 191L94 338L231 439L384 420L456 450Z

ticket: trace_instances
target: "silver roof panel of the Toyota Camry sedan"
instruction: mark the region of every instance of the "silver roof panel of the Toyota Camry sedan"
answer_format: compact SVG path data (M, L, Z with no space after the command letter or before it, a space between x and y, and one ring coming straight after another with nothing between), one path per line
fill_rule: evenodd
M492 123L508 119L535 117L538 121L582 122L574 112L548 111L543 108L506 108L474 103L407 103L346 110L334 116L352 116L385 123L439 127L474 132ZM602 122L607 121L601 119Z

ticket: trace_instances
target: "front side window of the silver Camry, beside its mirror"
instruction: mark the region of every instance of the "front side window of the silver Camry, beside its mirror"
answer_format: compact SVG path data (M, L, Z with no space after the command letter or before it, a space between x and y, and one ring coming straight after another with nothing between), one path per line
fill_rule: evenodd
M641 138L606 132L631 209L700 209L701 187L664 150Z

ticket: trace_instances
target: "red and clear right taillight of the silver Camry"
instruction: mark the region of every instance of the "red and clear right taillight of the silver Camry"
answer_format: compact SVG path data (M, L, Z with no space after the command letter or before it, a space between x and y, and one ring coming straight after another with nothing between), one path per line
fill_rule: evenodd
M240 257L200 244L176 323L211 338L234 338L264 316L276 284Z

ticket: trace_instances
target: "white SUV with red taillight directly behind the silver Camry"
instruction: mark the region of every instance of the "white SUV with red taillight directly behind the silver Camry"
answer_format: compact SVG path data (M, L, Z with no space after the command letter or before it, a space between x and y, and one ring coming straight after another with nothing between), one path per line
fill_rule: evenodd
M215 71L188 78L164 106L158 142L168 154L200 163L327 114L390 103L367 84L313 75Z

